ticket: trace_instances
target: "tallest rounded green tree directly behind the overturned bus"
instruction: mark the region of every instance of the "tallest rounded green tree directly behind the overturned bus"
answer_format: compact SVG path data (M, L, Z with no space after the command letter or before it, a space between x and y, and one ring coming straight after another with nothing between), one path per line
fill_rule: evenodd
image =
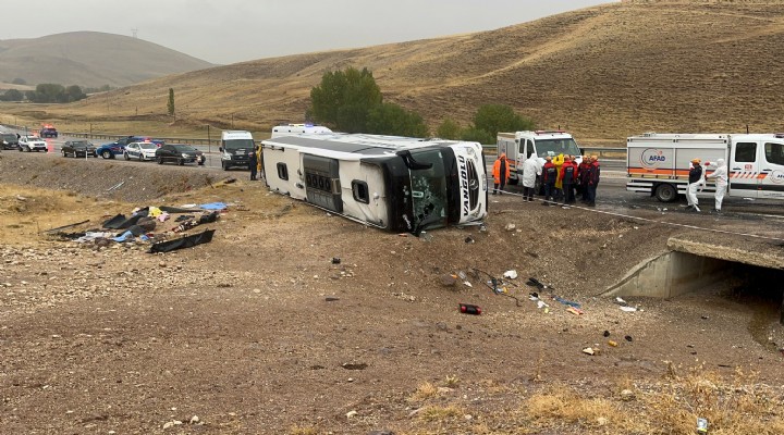
M381 104L381 89L368 69L327 72L321 84L310 89L314 120L346 133L367 132L371 108Z

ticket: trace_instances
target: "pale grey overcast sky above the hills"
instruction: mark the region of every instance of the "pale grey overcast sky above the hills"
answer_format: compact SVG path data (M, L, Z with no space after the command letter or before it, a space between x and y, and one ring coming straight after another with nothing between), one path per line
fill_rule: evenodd
M140 39L228 64L491 30L609 2L613 0L8 0L0 7L0 39L135 32Z

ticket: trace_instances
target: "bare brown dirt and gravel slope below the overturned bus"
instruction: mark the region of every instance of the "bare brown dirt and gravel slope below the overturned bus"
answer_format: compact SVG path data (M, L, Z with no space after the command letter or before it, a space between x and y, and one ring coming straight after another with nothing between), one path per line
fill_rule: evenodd
M218 186L219 171L2 157L0 433L652 434L697 417L715 433L784 428L784 361L767 343L782 331L763 294L722 283L628 300L634 313L598 296L682 228L505 195L487 232L420 239L262 182ZM133 191L107 195L121 182ZM212 243L167 254L41 234L212 201L230 204L205 225ZM507 270L520 277L497 295L485 272Z

